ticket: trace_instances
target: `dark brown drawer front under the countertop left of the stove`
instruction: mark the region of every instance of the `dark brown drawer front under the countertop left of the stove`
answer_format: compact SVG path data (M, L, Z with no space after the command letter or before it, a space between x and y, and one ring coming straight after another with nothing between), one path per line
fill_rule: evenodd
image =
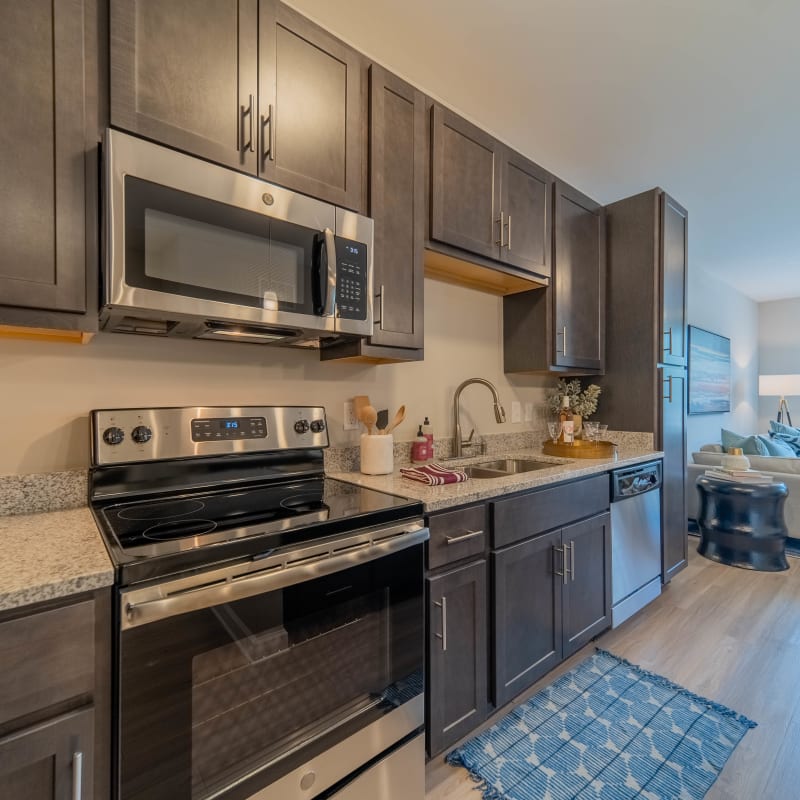
M94 600L0 623L0 724L94 687Z

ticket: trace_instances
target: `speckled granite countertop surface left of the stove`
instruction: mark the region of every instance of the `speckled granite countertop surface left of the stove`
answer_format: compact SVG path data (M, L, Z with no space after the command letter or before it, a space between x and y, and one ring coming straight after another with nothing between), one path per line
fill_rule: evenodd
M0 611L113 583L87 507L0 516Z

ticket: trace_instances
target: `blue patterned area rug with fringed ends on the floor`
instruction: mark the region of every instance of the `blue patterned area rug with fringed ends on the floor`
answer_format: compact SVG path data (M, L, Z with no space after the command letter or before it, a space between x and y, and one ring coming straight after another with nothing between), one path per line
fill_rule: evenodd
M485 800L700 800L755 725L598 650L447 761Z

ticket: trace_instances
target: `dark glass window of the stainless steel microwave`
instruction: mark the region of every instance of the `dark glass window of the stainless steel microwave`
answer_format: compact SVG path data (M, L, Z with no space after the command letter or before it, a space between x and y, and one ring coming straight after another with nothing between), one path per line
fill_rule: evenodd
M125 178L125 280L178 297L313 313L320 231Z

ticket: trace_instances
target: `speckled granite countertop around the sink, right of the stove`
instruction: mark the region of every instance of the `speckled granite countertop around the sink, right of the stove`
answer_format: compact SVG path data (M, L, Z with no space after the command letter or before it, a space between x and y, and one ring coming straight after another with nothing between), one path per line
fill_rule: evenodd
M463 483L451 483L445 486L427 486L424 483L404 478L400 474L400 467L411 466L406 464L397 465L395 471L390 475L362 475L360 472L329 472L328 475L331 478L366 486L369 489L377 489L389 494L421 500L425 504L426 511L440 511L441 509L473 503L478 500L519 492L523 489L533 489L537 486L547 486L551 483L583 478L587 475L597 475L619 467L661 458L663 455L663 452L659 450L620 447L615 458L565 459L543 455L540 448L515 450L504 453L502 458L531 458L537 461L549 461L553 466L502 478L469 478ZM457 469L459 466L477 464L481 461L490 461L498 457L500 456L474 456L458 461L444 461L441 463L446 467Z

